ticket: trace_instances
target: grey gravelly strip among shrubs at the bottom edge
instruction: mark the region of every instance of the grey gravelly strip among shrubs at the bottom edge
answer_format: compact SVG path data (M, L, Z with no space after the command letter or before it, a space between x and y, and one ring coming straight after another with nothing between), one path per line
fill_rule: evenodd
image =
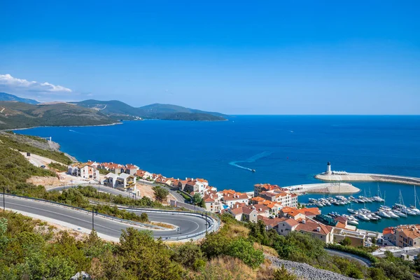
M342 274L338 274L335 272L330 272L324 269L318 269L315 267L311 267L306 263L302 262L291 262L290 260L281 260L276 257L266 255L266 258L271 260L273 267L284 267L288 270L288 272L295 274L299 279L307 279L307 280L351 280L353 278L344 276Z

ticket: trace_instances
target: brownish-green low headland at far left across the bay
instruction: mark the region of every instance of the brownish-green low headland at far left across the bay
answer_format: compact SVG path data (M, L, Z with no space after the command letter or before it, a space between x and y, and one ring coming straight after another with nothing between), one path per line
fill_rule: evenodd
M68 103L0 102L0 130L36 126L109 125L116 120L93 109Z

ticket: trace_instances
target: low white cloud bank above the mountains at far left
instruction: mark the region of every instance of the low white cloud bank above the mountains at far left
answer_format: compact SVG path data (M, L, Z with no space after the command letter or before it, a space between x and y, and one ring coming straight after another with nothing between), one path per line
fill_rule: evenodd
M0 74L0 86L11 90L27 90L31 92L72 92L62 85L52 85L50 83L38 83L20 78L14 78L10 74Z

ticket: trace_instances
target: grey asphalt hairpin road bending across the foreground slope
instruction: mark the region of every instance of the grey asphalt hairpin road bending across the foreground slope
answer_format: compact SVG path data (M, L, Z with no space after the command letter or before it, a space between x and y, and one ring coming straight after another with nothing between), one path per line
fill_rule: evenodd
M3 208L3 195L0 199L0 207ZM31 214L52 218L55 220L63 221L75 225L75 228L92 228L92 214L76 211L66 207L57 206L55 204L48 204L44 202L38 202L34 200L24 200L17 197L9 197L6 195L6 208L25 211ZM141 212L136 212L141 214ZM148 213L149 220L170 223L176 225L181 230L153 230L153 236L155 238L162 237L182 237L185 235L193 235L197 232L201 232L206 228L206 221L203 218L197 216L184 216L181 214L152 214ZM101 216L94 216L94 229L104 235L119 238L121 230L130 228L132 225L119 223L116 221L109 220L108 218L102 218Z

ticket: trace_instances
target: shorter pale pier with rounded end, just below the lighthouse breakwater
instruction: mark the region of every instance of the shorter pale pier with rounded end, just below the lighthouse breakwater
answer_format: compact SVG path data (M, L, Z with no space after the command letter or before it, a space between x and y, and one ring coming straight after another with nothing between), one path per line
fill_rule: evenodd
M312 183L283 187L293 193L327 193L327 194L353 194L360 192L359 188L351 183Z

